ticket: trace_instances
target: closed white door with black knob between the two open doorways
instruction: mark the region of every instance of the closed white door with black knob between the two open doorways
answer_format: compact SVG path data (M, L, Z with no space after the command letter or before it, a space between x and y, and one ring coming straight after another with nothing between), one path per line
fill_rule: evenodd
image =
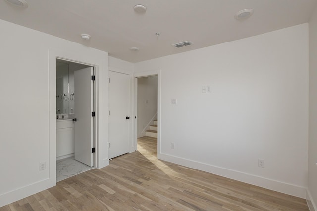
M109 158L114 158L129 152L129 75L109 71L108 94Z

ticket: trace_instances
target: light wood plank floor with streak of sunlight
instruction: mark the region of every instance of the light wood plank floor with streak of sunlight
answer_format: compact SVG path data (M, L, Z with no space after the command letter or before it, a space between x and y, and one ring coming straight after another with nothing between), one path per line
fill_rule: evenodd
M160 161L156 138L138 150L0 211L309 211L304 199Z

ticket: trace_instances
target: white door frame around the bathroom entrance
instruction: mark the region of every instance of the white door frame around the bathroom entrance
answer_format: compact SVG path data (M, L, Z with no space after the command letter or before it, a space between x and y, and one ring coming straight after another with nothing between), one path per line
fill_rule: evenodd
M56 185L56 59L71 61L94 67L96 81L95 81L95 108L96 117L95 124L95 147L96 153L94 155L95 168L100 169L109 165L108 151L105 150L107 142L107 115L103 112L107 107L107 86L105 81L108 77L108 60L102 56L91 56L78 54L77 52L67 50L49 49L49 174L47 187ZM105 141L102 141L104 140Z

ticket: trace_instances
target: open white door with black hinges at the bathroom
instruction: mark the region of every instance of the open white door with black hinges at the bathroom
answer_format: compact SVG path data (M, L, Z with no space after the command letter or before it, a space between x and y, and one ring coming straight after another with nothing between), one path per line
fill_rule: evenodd
M94 166L94 84L93 67L76 70L75 73L75 159Z

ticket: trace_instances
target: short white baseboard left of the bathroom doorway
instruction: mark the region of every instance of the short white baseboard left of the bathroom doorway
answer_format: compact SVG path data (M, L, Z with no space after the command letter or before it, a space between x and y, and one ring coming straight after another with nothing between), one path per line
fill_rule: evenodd
M15 202L17 200L36 194L40 191L46 190L56 185L56 179L43 179L41 181L29 184L19 189L12 190L0 195L0 207Z

